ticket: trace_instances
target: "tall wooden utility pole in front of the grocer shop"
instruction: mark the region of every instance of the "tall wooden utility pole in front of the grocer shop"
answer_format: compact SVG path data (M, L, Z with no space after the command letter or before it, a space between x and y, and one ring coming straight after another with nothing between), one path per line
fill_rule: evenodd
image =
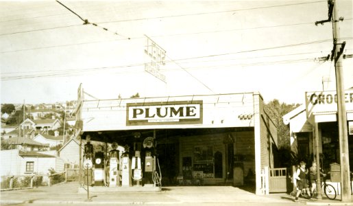
M339 33L339 1L334 1L333 10L333 38L334 43L340 43ZM337 58L338 57L338 58ZM337 88L337 121L339 123L339 153L341 164L341 201L351 201L350 194L350 161L348 150L348 134L347 134L347 115L345 111L345 93L343 87L343 55L337 56L334 52L334 68L336 72L336 88Z

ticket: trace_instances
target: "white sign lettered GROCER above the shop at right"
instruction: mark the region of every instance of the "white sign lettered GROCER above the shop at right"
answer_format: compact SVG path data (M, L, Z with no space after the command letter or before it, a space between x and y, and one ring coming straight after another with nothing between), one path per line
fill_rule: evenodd
M345 108L353 108L353 90L345 90ZM306 112L310 115L313 112L337 111L336 91L315 91L306 92Z

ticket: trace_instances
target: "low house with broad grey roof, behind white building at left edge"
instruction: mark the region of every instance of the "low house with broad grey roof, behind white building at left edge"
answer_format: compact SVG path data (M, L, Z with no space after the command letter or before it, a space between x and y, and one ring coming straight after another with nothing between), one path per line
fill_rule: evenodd
M12 137L1 141L1 144L8 144L9 149L40 151L49 150L49 144L42 144L30 138Z

